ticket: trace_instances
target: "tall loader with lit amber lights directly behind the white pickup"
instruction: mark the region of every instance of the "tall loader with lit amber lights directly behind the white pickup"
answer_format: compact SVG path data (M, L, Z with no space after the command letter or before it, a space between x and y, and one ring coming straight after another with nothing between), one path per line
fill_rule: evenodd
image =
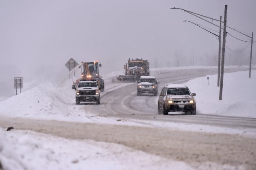
M92 80L96 81L100 91L104 91L104 80L99 76L99 67L102 64L98 61L96 62L81 62L81 78L73 82L73 89L77 88L80 81Z

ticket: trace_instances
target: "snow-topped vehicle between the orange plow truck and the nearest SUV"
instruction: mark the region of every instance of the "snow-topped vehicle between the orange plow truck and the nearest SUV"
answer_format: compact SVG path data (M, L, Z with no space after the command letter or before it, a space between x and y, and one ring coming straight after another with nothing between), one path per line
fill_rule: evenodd
M141 76L138 80L137 85L137 96L142 94L158 94L158 81L153 76Z

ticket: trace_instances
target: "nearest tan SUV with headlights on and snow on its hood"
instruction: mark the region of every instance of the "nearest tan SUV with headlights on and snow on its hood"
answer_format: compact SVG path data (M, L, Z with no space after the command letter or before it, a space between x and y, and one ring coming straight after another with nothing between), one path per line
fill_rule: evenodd
M191 93L186 85L166 85L158 98L158 113L183 111L185 114L196 114L195 93Z

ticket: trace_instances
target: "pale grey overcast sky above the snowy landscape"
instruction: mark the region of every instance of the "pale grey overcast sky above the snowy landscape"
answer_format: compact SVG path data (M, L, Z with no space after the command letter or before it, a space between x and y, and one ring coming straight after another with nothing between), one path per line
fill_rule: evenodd
M159 66L166 66L175 54L218 55L214 35L181 21L215 31L218 27L170 8L224 19L225 5L228 26L256 34L256 0L0 0L0 65L12 65L22 74L52 65L68 71L64 65L72 57L79 63L98 60L103 74L121 70L129 57L151 64L157 59ZM232 50L247 44L227 37ZM246 51L250 53L250 45Z

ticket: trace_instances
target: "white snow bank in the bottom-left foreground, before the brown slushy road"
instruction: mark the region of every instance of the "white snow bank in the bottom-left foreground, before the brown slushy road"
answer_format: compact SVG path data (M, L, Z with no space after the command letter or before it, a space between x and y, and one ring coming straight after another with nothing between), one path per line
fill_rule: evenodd
M68 140L31 131L0 128L0 163L4 170L193 170L120 144Z

